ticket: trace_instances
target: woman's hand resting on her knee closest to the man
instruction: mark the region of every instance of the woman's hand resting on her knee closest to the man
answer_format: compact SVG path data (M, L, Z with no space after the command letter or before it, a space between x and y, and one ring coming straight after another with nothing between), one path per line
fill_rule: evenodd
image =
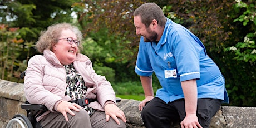
M120 125L120 122L117 117L119 117L122 121L126 122L125 114L122 110L119 109L115 104L107 104L105 105L105 114L106 121L109 121L110 117L116 121L116 124Z

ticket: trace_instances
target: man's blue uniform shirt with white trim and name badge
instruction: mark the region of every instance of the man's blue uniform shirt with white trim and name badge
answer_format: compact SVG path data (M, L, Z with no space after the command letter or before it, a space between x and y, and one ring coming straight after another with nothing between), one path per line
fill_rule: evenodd
M176 71L167 77L165 71ZM157 76L162 88L156 96L166 103L184 98L181 82L196 79L198 98L220 99L228 103L225 81L221 72L206 54L203 43L188 29L167 18L160 41L140 39L135 72L140 76Z

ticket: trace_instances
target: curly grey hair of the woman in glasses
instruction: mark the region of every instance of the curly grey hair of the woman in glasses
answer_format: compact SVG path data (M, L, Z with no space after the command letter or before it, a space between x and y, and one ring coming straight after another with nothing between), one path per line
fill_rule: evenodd
M61 32L67 29L70 29L73 33L75 33L78 41L82 41L82 32L78 29L78 27L72 26L69 23L57 23L52 24L45 31L41 31L40 37L36 42L36 50L39 53L43 53L45 49L51 50L52 46L58 42L57 39L61 37ZM80 53L80 50L82 50L82 48L83 47L80 43L77 53Z

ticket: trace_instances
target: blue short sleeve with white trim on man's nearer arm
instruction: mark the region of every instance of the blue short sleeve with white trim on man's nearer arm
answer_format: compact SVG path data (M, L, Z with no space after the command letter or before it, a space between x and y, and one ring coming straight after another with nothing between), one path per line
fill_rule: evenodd
M180 74L180 82L192 79L200 79L200 51L203 48L196 42L192 33L183 28L176 28L169 35L173 40L172 48Z

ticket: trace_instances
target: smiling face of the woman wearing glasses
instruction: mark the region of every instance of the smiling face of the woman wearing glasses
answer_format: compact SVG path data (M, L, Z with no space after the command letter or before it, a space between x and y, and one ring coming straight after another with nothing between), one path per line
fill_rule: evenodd
M70 29L62 30L61 36L58 38L58 42L52 47L52 52L55 53L62 65L70 65L73 63L78 50L78 46L76 46L75 43L70 45L70 43L67 42L67 38L77 40L75 33Z

